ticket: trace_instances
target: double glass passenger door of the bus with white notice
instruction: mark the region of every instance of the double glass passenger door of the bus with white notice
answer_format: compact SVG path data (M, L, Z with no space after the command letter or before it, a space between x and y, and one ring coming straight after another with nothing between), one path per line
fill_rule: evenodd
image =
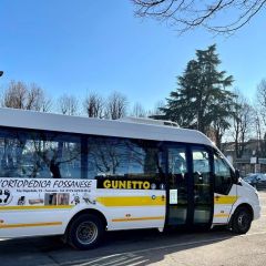
M167 162L167 224L211 225L213 182L208 150L196 145L168 145Z

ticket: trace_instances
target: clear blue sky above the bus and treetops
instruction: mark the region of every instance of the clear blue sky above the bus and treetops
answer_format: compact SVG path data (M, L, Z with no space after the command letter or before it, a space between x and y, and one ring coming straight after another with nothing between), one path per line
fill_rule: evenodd
M266 78L265 12L225 38L203 30L180 37L163 23L135 18L133 10L130 0L1 0L1 90L21 80L54 99L119 91L152 109L176 88L195 50L213 43L221 70L249 99Z

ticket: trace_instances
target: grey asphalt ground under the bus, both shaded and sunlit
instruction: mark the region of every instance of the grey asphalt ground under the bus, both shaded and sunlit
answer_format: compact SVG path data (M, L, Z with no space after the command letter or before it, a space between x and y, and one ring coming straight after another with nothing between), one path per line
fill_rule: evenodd
M266 192L259 193L263 216L248 234L224 229L202 233L134 231L109 233L104 244L79 252L57 237L0 239L1 266L80 265L266 265Z

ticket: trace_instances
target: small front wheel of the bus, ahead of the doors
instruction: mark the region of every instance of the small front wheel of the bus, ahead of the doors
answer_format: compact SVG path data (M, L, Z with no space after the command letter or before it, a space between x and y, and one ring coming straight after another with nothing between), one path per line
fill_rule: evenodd
M252 225L252 213L247 207L238 207L232 217L232 231L236 234L246 234Z

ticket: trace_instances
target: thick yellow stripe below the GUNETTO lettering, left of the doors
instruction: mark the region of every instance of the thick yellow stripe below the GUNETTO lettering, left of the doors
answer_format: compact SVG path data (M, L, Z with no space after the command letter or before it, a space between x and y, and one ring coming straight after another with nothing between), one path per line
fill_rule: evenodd
M161 206L165 205L165 200L157 196L154 200L151 196L115 196L115 197L98 197L96 202L106 207L124 207L124 206Z

